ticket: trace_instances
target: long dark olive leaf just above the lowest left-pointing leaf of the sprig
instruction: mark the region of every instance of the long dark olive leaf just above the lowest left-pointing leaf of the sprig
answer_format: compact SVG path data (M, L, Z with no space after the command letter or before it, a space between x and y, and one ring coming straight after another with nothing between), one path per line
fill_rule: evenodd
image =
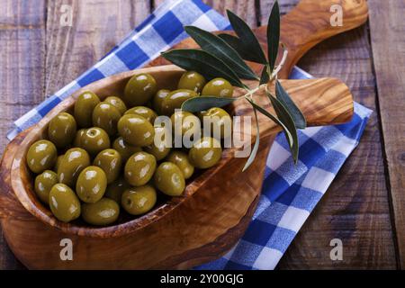
M197 42L200 47L216 58L220 58L227 64L240 78L258 80L255 72L247 66L245 61L239 56L225 40L217 35L211 34L198 27L185 26L184 30Z

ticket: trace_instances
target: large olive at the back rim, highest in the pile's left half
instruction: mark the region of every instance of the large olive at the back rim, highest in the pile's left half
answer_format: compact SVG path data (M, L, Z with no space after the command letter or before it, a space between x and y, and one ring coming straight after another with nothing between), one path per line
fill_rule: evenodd
M130 78L124 89L123 100L128 107L147 103L157 92L157 83L153 76L142 73Z

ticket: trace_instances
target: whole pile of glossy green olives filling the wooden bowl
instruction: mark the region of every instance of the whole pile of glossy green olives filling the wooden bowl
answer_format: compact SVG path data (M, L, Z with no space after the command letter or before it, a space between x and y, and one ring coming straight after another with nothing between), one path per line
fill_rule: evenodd
M123 211L147 213L163 194L181 196L195 171L220 161L220 141L229 136L221 125L231 117L221 108L195 115L175 109L200 95L231 97L233 87L225 79L206 81L186 71L176 88L160 89L153 76L139 74L130 78L121 95L101 99L91 91L80 94L73 111L51 119L48 137L32 143L27 152L40 202L63 222L81 218L105 226ZM202 135L200 119L219 116L211 125L218 126L220 137L203 136L192 139L191 147L172 148L170 141L166 145L155 140L168 129L156 124L159 115L181 123L170 130L173 136Z

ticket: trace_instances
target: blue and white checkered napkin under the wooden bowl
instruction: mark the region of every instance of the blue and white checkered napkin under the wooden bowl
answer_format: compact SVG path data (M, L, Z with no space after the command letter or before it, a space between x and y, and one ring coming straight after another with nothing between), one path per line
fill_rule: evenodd
M209 31L229 29L229 22L201 0L166 0L117 47L82 76L14 122L7 135L40 119L69 94L95 80L141 67L186 34L183 25ZM299 68L292 78L309 78ZM349 154L356 148L371 111L355 103L353 121L299 131L300 160L296 166L283 134L269 153L266 178L254 219L229 253L197 269L273 269L296 233L320 201Z

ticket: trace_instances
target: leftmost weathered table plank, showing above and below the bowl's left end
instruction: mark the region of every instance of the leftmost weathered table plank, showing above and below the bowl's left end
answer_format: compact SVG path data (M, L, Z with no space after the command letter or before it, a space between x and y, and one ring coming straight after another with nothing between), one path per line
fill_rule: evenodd
M0 14L0 150L12 121L43 100L45 1L2 1ZM22 268L0 232L0 270Z

